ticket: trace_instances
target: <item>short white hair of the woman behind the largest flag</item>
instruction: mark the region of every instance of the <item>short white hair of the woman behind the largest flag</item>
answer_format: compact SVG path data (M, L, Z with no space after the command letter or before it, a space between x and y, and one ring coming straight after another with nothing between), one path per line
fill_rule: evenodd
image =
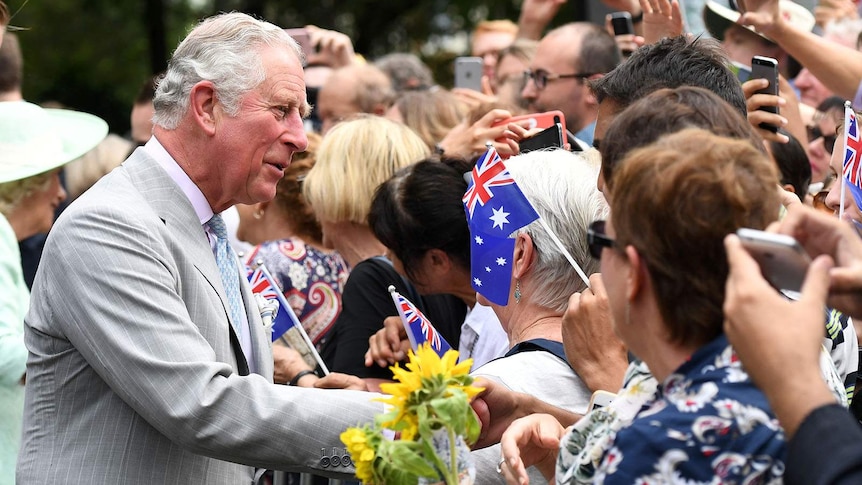
M590 255L587 227L608 214L604 196L596 188L598 169L566 150L533 151L506 161L521 191L587 276L599 270ZM563 312L572 293L586 285L539 221L516 231L533 239L536 262L532 271L531 301Z

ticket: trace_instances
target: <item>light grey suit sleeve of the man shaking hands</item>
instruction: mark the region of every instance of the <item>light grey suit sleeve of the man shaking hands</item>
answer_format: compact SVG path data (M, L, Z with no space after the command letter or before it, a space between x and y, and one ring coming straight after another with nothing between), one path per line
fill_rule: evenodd
M86 367L70 375L80 382L66 384L80 388L67 406L94 412L117 406L118 396L193 453L332 474L318 470L320 449L340 445L344 429L382 406L369 393L277 386L233 372L211 345L224 341L218 332L227 327L191 317L219 300L206 296L202 275L181 271L190 263L179 260L166 231L143 211L93 207L61 219L49 238L39 278L44 298L28 325L53 340L36 352L78 352L98 375L81 378ZM70 347L58 349L65 341ZM94 399L104 402L85 402Z

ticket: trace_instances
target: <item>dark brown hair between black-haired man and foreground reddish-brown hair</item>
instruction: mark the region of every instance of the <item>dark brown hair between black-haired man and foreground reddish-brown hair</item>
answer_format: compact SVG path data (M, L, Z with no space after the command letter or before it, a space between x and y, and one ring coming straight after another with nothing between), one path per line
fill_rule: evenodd
M619 113L608 127L599 147L608 189L613 189L614 171L629 151L685 128L742 139L766 153L748 121L715 93L693 86L659 89Z

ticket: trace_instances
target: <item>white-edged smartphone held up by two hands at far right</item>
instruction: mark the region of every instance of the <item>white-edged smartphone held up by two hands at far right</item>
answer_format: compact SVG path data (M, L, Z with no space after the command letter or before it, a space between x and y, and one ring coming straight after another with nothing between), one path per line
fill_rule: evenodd
M811 257L799 242L784 234L773 234L757 229L739 229L736 235L742 246L760 265L769 283L778 290L798 292L805 281Z

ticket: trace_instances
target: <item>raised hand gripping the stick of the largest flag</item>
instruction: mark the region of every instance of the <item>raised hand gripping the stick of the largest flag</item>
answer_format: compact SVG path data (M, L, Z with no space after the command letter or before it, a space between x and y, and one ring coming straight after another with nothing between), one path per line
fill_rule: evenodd
M590 287L569 298L563 314L563 347L590 391L617 392L628 368L628 352L614 333L601 274L590 276Z

